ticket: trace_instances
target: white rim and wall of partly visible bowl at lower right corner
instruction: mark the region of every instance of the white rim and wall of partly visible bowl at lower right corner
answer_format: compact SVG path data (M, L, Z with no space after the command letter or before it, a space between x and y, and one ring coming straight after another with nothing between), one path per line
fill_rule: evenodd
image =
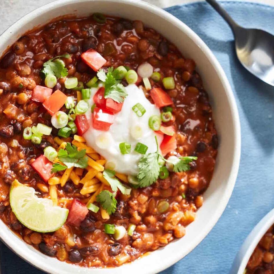
M274 223L274 209L269 211L249 233L232 264L230 274L242 274L255 247Z

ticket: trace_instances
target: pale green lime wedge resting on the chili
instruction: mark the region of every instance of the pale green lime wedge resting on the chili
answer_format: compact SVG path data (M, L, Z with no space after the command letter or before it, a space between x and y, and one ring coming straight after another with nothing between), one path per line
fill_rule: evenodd
M53 206L52 200L38 198L32 187L14 180L10 189L10 206L17 219L37 232L52 232L67 220L68 209Z

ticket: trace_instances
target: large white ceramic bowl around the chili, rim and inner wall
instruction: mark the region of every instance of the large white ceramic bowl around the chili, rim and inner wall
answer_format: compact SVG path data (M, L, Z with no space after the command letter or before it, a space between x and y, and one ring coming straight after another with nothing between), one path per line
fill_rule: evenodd
M207 45L184 23L164 10L138 0L60 0L36 9L14 23L0 39L0 52L22 34L56 17L93 12L141 20L173 42L182 54L193 58L209 93L220 137L220 146L211 184L204 194L204 204L186 235L130 264L118 268L88 269L60 262L36 251L0 222L0 237L15 253L34 266L54 274L67 273L157 273L176 263L194 249L220 218L231 196L240 161L240 122L229 82ZM122 271L122 272L121 272Z

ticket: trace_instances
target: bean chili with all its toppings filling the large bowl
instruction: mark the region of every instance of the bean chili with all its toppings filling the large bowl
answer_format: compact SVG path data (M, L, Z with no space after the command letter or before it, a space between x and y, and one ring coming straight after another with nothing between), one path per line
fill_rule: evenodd
M184 238L218 149L195 61L142 21L106 14L35 28L0 61L0 217L86 268Z

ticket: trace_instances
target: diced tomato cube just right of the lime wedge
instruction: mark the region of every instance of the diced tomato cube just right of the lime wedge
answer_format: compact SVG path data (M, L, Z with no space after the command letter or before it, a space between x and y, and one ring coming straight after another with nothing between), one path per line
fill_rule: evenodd
M79 200L74 199L69 209L67 222L79 226L81 222L85 219L87 213L87 206Z

